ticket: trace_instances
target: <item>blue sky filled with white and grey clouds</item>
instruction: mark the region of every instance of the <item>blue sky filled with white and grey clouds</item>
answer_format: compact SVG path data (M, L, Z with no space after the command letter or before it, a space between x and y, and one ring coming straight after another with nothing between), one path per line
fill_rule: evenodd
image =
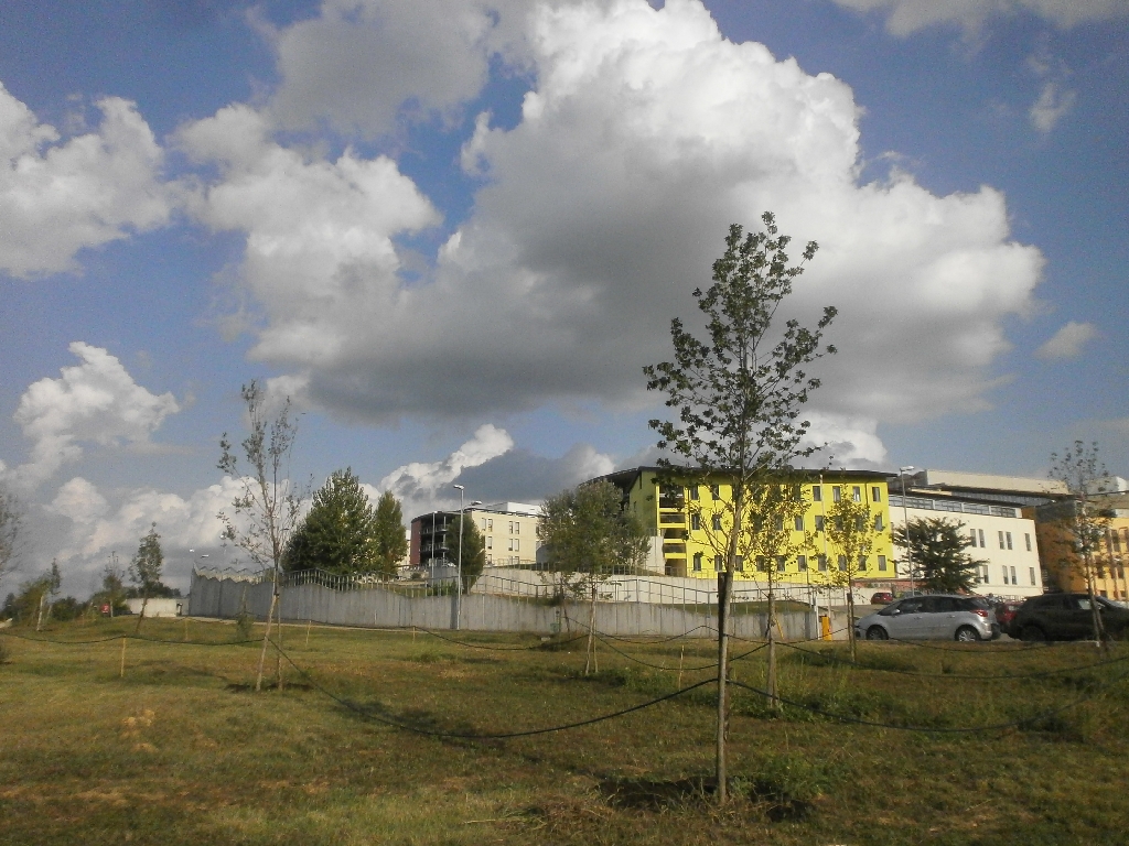
M85 596L156 522L246 565L253 379L294 476L405 517L651 462L642 367L730 223L817 241L834 466L1129 476L1127 0L8 0L0 484ZM193 552L189 552L192 549ZM200 556L207 555L204 561Z

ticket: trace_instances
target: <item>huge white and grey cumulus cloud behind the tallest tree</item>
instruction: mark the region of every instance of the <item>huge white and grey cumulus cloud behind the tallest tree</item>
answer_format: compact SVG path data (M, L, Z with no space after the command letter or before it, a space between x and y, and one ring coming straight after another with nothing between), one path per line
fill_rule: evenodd
M402 279L395 238L438 215L391 160L299 153L243 106L183 132L220 164L196 213L246 232L253 354L308 402L367 421L653 402L640 368L671 356L673 316L695 321L690 292L728 224L773 210L821 244L795 315L840 309L815 411L863 437L987 404L1005 319L1032 308L1042 268L999 192L860 183L851 89L727 41L698 0L519 18L509 55L534 80L520 121L475 122L462 159L484 182L421 280Z

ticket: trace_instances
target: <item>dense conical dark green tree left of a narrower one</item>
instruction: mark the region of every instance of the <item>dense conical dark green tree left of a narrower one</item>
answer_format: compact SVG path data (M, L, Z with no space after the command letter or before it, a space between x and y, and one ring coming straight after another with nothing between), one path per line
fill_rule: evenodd
M380 570L376 510L351 468L330 474L290 536L286 570L371 573Z

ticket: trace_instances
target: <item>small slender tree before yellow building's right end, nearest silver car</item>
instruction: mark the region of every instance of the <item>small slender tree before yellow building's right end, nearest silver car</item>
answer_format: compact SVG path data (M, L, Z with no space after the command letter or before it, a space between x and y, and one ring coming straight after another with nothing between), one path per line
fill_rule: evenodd
M855 642L855 581L866 570L866 559L874 552L882 535L878 522L882 512L870 509L866 485L847 485L840 482L831 487L831 508L828 509L823 531L828 545L834 550L834 562L828 562L831 583L847 592L847 640L850 656L858 659Z

